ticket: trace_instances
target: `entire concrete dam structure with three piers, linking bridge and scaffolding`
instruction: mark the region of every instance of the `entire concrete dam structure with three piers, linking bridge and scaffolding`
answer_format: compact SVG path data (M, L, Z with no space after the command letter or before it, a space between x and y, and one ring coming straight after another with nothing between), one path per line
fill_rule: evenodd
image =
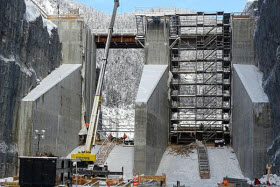
M270 162L267 149L273 128L271 103L255 54L255 20L222 11L137 13L135 20L137 33L115 33L111 41L111 48L141 48L144 53L134 101L135 124L129 127L134 145L125 156L132 173L161 171L169 145L200 141L207 147L223 140L232 145L244 177L262 177ZM52 21L61 42L61 64L19 102L14 133L18 156L38 152L69 156L78 150L79 135L90 123L98 79L97 49L105 47L107 35L92 33L79 16ZM102 129L102 120L98 123L101 141L109 139L106 133L128 132L126 126L123 131L110 129L113 125ZM34 140L35 130L46 131L40 146ZM126 154L124 147L117 147L119 154ZM112 162L110 151L106 156ZM215 154L206 155L208 162L208 156Z

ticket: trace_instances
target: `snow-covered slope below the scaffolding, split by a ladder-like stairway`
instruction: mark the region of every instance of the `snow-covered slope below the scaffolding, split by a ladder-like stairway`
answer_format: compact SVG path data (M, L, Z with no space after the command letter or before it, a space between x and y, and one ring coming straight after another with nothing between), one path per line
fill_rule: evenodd
M213 187L222 182L223 177L244 179L238 160L231 147L208 148L210 163L210 179L200 179L198 170L197 151L193 150L189 156L170 154L170 148L164 153L157 175L166 174L167 186L180 181L186 186Z

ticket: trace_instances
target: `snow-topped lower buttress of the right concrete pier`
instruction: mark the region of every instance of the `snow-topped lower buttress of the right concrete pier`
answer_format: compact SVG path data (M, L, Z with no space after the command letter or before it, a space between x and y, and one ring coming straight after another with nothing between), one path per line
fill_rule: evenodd
M254 65L233 67L232 144L244 176L254 179L265 174L268 163L270 104L259 69Z

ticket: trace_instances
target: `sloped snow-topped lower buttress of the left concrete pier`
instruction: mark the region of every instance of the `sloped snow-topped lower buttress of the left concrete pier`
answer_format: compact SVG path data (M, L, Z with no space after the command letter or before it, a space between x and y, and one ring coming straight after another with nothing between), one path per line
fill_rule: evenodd
M40 152L67 156L78 145L81 123L81 65L64 64L42 80L20 103L19 156L37 151L34 130L46 130Z

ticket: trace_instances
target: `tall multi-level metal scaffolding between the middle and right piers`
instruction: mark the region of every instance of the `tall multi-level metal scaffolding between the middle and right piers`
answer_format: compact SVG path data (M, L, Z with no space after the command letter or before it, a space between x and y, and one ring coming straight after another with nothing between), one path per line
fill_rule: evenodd
M231 106L230 14L176 14L171 45L170 140L222 139Z

